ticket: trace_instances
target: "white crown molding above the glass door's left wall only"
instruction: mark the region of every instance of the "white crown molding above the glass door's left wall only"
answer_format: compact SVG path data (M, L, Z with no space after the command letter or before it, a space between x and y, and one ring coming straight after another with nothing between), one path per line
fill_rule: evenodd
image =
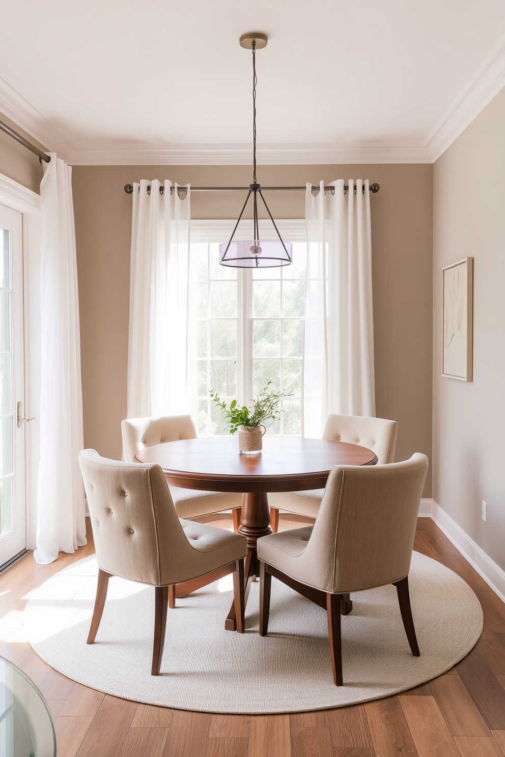
M0 73L0 111L44 145L48 152L55 152L67 160L72 151L68 136L38 111L3 73Z

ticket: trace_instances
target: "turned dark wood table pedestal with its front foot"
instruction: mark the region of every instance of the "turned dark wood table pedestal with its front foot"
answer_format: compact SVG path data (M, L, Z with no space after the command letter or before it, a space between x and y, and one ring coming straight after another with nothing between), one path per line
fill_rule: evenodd
M263 491L246 492L242 495L242 514L238 531L248 540L248 554L245 558L245 604L248 603L249 590L253 576L259 575L257 565L256 542L260 536L272 533L270 528L270 508L267 494ZM226 631L236 631L235 603L232 603L224 624Z

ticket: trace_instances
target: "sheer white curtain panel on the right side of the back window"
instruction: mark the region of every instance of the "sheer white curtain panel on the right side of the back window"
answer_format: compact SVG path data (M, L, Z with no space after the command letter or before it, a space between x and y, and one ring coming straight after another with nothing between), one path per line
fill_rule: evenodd
M328 413L376 414L369 182L332 185L314 197L307 184L306 197L303 433L314 438Z

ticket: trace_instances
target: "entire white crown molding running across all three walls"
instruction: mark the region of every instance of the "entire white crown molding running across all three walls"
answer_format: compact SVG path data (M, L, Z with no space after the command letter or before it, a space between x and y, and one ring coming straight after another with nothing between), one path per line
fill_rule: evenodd
M429 164L457 139L505 86L505 36L494 47L465 89L450 105L423 144L260 145L263 165ZM42 114L0 73L0 111L48 149L75 166L249 165L247 145L118 145L117 142L73 145L70 136Z

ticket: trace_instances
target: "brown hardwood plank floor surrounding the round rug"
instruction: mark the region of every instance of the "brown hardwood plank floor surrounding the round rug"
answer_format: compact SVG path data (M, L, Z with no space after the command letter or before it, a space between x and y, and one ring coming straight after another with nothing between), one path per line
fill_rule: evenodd
M215 525L231 529L232 518ZM281 516L279 530L297 525ZM0 576L0 654L48 700L58 757L503 757L505 605L430 519L419 519L414 546L470 584L484 631L448 673L388 699L294 715L210 715L139 705L70 681L26 643L22 613L31 590L93 552L92 538L51 565L30 554Z

